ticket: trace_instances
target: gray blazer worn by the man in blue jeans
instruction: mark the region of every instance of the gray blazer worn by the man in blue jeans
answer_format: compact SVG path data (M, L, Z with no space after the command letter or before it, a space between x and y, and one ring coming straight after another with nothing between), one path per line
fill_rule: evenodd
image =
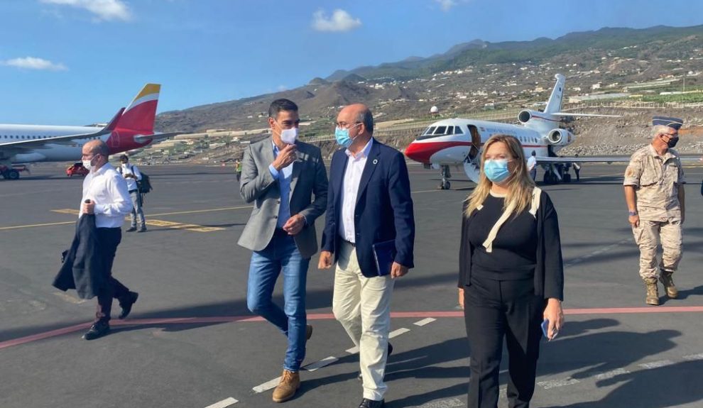
M327 172L320 148L300 140L295 145L298 148L298 160L293 162L290 180L290 215L305 216L307 225L293 238L300 255L310 258L317 252L315 219L325 213L327 208ZM244 202L254 202L254 209L239 237L239 245L251 250L266 248L276 230L280 187L268 170L271 162L271 138L249 145L244 150L239 192ZM315 194L314 201L312 194Z

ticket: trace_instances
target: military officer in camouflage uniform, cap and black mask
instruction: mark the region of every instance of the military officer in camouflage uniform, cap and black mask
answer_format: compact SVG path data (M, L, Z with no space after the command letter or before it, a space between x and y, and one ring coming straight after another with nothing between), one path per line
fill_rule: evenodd
M685 217L684 172L678 153L678 118L655 116L650 145L637 150L625 170L625 200L635 242L640 247L640 276L647 287L647 304L659 304L657 279L667 297L678 291L672 279L681 260L681 224ZM657 246L663 253L657 263ZM657 265L658 264L658 265Z

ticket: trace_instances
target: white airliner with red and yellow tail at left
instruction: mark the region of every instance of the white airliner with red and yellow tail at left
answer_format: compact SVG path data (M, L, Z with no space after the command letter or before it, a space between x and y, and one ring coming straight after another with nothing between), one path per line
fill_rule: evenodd
M102 128L94 126L41 126L0 124L0 169L16 180L13 163L78 161L88 140L100 138L110 154L143 148L154 140L178 133L154 133L154 118L161 86L146 84L127 108L120 109Z

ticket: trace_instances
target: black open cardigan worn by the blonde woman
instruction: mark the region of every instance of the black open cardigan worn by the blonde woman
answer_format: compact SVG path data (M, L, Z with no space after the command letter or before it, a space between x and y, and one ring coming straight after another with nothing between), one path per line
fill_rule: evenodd
M467 217L468 201L462 211L462 241L459 249L459 287L471 285L471 260L474 246L469 243L469 228L476 215ZM547 193L542 192L537 209L537 264L535 265L535 294L545 299L564 299L564 262L559 236L559 220L554 204Z

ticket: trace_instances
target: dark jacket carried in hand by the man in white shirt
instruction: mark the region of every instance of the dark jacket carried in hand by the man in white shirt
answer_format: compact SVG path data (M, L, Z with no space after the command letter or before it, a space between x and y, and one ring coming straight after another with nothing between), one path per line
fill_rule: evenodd
M92 299L106 285L108 275L98 248L95 216L83 214L53 286L64 292L75 289L81 299Z

